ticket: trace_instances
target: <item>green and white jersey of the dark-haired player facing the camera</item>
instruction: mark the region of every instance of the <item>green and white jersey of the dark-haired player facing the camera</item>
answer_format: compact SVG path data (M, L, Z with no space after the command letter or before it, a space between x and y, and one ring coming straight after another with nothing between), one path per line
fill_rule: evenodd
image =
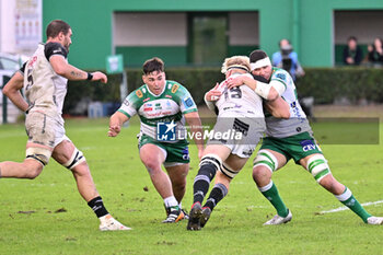
M141 120L141 134L156 139L156 124L176 124L176 140L186 139L184 114L197 112L197 106L190 93L175 81L166 81L160 95L153 94L143 84L131 92L118 112L131 118L136 114Z

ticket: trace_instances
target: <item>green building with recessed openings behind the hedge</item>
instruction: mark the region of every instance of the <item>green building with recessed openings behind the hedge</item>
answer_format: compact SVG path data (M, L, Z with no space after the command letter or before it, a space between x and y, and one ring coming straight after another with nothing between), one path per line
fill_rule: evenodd
M383 1L44 1L43 27L54 19L73 27L70 60L81 68L104 68L115 53L126 67L153 55L167 66L211 66L257 47L271 54L281 38L304 67L333 67L348 36L365 50L381 35Z

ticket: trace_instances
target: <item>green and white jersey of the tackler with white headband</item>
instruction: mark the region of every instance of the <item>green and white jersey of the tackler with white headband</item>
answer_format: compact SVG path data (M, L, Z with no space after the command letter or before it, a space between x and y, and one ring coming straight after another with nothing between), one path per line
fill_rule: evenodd
M289 104L290 118L283 119L267 115L265 117L266 136L285 138L305 131L312 132L306 115L298 102L297 88L291 76L283 69L274 67L270 78L270 83L272 82L281 82L285 85L285 91L280 96Z

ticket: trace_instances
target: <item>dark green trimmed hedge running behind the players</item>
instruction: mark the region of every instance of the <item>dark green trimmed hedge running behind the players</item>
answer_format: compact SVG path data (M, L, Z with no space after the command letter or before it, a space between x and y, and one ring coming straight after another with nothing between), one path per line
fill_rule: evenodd
M129 69L128 90L142 85L141 69ZM204 104L204 94L216 82L224 79L219 68L169 68L166 79L185 85L198 105ZM108 83L89 81L68 83L68 94L63 113L71 109L81 100L120 102L119 83L121 74L108 76ZM314 96L315 104L332 104L335 100L347 98L352 104L360 100L383 103L383 69L375 68L306 68L305 76L298 80L300 96Z

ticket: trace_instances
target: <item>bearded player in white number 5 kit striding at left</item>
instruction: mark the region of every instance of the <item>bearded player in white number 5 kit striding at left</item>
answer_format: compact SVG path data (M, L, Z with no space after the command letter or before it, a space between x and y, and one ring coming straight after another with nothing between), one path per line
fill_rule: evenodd
M54 158L74 176L80 195L101 221L100 230L129 230L106 210L100 197L86 160L66 136L61 117L67 94L67 80L107 82L102 72L88 73L68 63L72 30L63 21L55 20L46 30L47 42L5 84L3 93L26 113L25 129L28 136L26 159L22 163L0 163L0 177L35 178ZM25 100L21 94L24 90Z

